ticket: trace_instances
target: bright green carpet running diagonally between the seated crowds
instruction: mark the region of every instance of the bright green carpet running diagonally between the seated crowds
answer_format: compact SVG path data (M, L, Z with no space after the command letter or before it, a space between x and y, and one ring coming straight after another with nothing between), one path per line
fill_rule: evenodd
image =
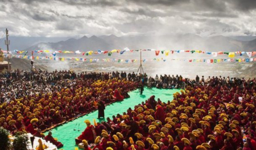
M149 99L150 96L155 95L155 100L158 98L163 101L167 102L168 100L172 100L173 93L179 92L178 89L157 89L157 88L152 88L148 89L145 88L143 95L140 95L138 90L134 90L133 92L129 92L130 98L124 99L122 102L115 102L112 103L111 105L108 105L105 109L105 118L109 117L110 119L112 118L112 115L116 114L122 114L123 112L126 112L126 110L130 108L134 108L135 105L138 105L142 101L145 101ZM77 138L85 129L86 125L84 123L84 120L88 119L91 121L93 124L93 119L96 119L96 122L102 121L97 119L98 117L98 111L92 112L90 114L84 115L74 121L65 123L57 128L52 129L52 135L54 138L57 138L60 142L64 144L64 147L60 149L65 149L65 150L71 150L74 149L76 146L74 139ZM77 124L77 126L76 126ZM78 131L78 125L80 131ZM74 126L76 126L76 131L74 131ZM47 135L48 132L45 133Z

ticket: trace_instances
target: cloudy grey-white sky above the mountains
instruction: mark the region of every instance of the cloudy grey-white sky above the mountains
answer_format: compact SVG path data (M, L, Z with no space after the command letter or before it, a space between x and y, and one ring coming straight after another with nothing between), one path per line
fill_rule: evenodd
M256 0L0 0L0 35L256 35Z

